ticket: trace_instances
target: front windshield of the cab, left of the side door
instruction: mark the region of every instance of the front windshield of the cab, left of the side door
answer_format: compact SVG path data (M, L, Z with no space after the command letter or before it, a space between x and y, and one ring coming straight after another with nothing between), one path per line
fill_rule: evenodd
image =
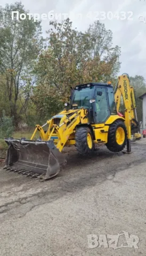
M94 86L85 87L80 90L75 90L72 104L77 104L79 108L80 107L91 108L92 103L90 103L90 100L93 97L93 89L94 89Z

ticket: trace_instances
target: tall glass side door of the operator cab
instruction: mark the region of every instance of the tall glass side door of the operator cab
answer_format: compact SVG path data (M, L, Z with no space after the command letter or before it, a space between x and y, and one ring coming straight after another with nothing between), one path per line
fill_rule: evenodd
M94 117L96 124L105 123L110 116L106 87L97 86L95 90Z

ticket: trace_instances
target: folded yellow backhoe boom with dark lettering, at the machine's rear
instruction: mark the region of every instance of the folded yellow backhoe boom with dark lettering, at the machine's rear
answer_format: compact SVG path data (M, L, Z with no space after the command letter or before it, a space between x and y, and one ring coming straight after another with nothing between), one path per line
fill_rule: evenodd
M121 97L123 98L125 107L125 125L127 128L127 139L131 139L132 123L137 122L136 101L134 89L129 84L129 78L126 74L118 77L118 82L115 87L115 102L117 111L119 112ZM135 121L136 120L136 121ZM137 124L137 123L136 123Z

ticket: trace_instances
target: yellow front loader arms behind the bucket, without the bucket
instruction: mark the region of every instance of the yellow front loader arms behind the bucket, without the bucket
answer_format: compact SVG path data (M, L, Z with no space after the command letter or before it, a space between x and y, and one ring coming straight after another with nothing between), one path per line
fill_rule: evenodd
M35 134L39 131L39 135L43 141L54 139L54 144L61 152L63 147L68 142L70 135L75 133L75 128L78 124L88 123L88 111L81 108L76 110L63 110L58 115L53 116L51 120L47 121L48 129L44 132L43 126L36 125L35 132L31 140L34 139ZM58 118L59 123L55 124L55 119Z

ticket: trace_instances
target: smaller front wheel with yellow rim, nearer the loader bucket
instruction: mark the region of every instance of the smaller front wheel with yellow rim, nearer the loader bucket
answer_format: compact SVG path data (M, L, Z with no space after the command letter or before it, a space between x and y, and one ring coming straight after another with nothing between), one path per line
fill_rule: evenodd
M90 128L81 126L76 129L76 148L80 155L90 155L94 151L94 142Z

